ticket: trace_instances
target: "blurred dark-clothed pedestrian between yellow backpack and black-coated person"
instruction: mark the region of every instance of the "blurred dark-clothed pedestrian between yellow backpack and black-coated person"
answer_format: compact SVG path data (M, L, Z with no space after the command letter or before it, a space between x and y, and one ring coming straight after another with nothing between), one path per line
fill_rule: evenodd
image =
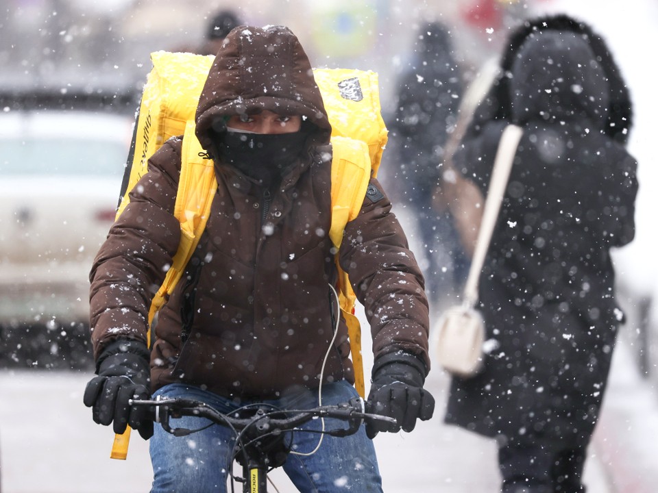
M450 31L439 22L419 28L414 56L402 74L389 137L399 161L395 186L411 207L424 246L424 275L430 303L459 290L467 257L443 197L445 149L462 92Z

